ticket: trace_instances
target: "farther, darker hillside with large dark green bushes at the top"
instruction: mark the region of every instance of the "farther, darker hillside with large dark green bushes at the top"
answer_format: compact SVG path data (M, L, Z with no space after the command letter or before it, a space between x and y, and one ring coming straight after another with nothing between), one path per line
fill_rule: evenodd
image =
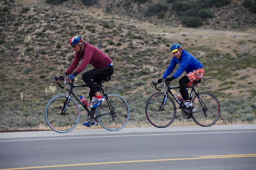
M223 5L217 5L218 1ZM195 27L204 29L247 30L256 27L256 13L250 12L249 8L243 5L244 0L85 0L84 2L86 3L66 1L60 6L72 12L92 11L97 15L104 12L115 17L171 27L186 27L186 22L183 20L189 20L190 17L203 19L202 26ZM195 22L199 23L200 20Z

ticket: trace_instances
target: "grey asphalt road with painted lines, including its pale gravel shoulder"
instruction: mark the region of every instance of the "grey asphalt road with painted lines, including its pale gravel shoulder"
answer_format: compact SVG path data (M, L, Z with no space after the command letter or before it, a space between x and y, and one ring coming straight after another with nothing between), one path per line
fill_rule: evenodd
M255 124L0 133L0 170L255 170L255 141Z

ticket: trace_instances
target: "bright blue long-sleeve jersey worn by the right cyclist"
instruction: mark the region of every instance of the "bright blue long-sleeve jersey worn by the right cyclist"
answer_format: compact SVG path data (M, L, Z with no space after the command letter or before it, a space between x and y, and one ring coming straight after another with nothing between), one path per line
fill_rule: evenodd
M166 79L167 76L169 76L173 72L177 64L179 64L180 67L172 76L175 79L178 78L185 70L186 73L189 73L195 69L204 67L203 64L200 63L200 61L197 60L193 55L188 53L188 51L182 50L180 59L177 59L173 56L170 65L168 66L164 73L163 78Z

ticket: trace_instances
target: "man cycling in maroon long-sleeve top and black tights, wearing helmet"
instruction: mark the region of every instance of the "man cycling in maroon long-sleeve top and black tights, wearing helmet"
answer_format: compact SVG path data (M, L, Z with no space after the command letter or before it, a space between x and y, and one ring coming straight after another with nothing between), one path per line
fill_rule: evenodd
M88 64L91 64L94 67L94 69L84 72L82 74L82 79L90 88L90 106L91 108L96 108L100 106L105 99L100 94L99 88L96 88L94 82L96 84L100 84L102 79L113 74L113 61L109 58L109 56L95 46L87 42L83 42L81 35L72 37L70 39L70 46L72 46L72 49L76 52L76 55L74 61L64 74L68 75L67 81L70 81L80 74ZM76 69L81 59L82 63ZM73 72L75 69L76 71ZM59 76L59 78L63 80L64 75ZM89 122L84 123L83 125L89 126ZM98 125L98 122L95 121L91 125Z

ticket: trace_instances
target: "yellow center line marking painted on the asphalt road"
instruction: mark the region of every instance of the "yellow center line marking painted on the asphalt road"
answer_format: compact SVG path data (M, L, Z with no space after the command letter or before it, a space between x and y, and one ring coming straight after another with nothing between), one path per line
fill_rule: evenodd
M196 159L199 160L199 159L215 159L215 158L244 158L244 157L256 157L256 154L213 155L213 156L200 156L198 158L174 158L174 159L137 160L137 161L119 161L119 162L80 163L80 164L68 164L68 165L49 165L49 166L35 166L35 167L22 167L22 168L8 168L8 169L0 169L0 170L36 169L36 168L68 167L68 166L83 166L83 165L102 165L102 164L115 164L115 163L157 162L157 161L196 160Z

